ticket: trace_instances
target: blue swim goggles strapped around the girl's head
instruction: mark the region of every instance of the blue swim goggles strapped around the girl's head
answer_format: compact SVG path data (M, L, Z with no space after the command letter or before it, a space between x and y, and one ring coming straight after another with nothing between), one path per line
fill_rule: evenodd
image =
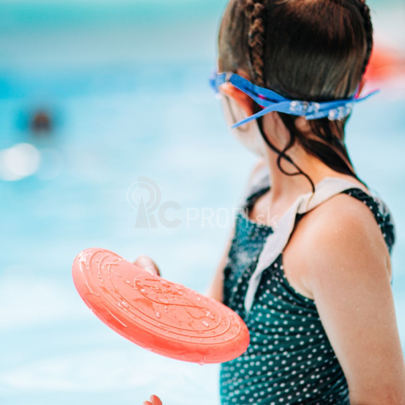
M239 127L243 124L265 115L271 111L284 112L291 115L305 116L308 119L318 119L328 117L330 120L341 120L348 116L355 103L368 99L377 94L380 90L375 90L363 97L359 97L358 88L355 95L349 99L332 100L332 101L303 101L292 100L283 97L272 90L256 86L249 82L245 77L242 77L233 72L218 73L217 68L212 70L210 75L210 85L219 96L219 86L229 82L240 91L244 92L255 100L263 109L249 117L241 119L233 124L231 128Z

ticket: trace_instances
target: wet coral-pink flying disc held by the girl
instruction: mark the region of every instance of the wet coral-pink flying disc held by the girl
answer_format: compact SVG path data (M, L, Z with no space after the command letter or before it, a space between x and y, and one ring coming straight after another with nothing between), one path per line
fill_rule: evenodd
M236 312L115 253L84 250L72 274L93 313L145 349L201 364L232 360L248 348L249 331Z

